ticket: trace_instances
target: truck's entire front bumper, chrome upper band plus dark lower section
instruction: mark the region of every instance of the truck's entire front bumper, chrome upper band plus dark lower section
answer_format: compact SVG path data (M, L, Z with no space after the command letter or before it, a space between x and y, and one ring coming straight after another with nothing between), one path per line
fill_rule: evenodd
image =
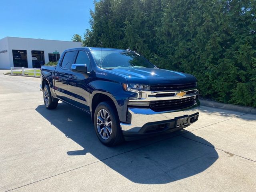
M155 112L150 108L128 108L131 122L121 122L120 127L125 136L179 130L198 120L199 107L200 102L197 99L194 106L182 110ZM188 124L176 128L176 118L183 116L189 116Z

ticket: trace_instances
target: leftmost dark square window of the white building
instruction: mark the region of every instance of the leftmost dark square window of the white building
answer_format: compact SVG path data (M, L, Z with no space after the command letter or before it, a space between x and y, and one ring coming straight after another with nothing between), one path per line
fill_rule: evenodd
M28 67L26 50L12 50L12 57L14 67Z

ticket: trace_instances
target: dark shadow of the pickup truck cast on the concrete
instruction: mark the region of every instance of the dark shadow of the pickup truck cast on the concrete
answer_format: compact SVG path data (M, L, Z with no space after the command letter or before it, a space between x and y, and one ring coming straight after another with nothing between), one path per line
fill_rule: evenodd
M186 133L189 139L184 138L180 130L110 148L98 140L87 113L64 103L59 103L55 110L40 105L36 111L84 148L67 151L66 155L82 155L85 164L90 164L86 155L92 154L135 183L164 184L188 178L203 172L218 159L214 146L191 132Z

